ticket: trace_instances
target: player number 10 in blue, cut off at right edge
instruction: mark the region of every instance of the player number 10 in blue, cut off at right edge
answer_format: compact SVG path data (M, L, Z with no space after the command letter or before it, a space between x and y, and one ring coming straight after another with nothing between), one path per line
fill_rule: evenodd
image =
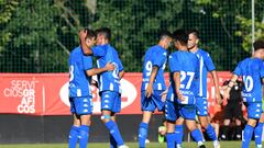
M249 148L250 140L255 133L256 148L262 148L262 87L264 83L264 41L256 41L254 44L254 53L252 57L240 61L233 71L231 81L226 89L226 96L229 98L231 88L235 84L239 77L244 82L242 98L248 109L248 123L244 128L242 138L242 148ZM260 119L261 118L261 119Z

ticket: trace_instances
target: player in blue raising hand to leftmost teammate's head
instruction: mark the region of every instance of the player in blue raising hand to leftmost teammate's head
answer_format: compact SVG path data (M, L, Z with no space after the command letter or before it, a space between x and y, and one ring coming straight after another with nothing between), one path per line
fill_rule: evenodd
M110 133L110 147L127 148L116 123L116 113L121 110L120 79L123 77L123 66L118 52L110 45L111 31L108 27L97 30L97 46L89 47L85 44L87 32L80 32L81 49L85 55L94 55L97 67L105 67L107 62L116 66L113 71L106 71L98 76L99 93L101 96L101 119Z

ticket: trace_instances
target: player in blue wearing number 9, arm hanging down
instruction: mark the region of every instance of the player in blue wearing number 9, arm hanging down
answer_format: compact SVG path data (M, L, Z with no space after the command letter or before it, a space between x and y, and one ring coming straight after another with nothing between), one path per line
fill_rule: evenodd
M139 127L139 147L145 147L147 128L152 113L162 111L165 100L162 99L166 90L164 69L167 61L167 48L172 42L172 34L163 31L158 35L158 43L147 49L143 64L143 81L141 86L142 122Z

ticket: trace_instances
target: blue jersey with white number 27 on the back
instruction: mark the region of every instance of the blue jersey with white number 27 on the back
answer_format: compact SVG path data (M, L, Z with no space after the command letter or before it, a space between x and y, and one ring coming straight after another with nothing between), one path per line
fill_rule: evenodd
M195 104L195 96L199 88L199 60L195 54L189 52L178 50L169 55L169 77L170 84L168 88L167 101L177 102L179 104ZM180 92L185 96L185 101L175 100L177 96L175 92L175 82L173 80L174 72L180 72Z

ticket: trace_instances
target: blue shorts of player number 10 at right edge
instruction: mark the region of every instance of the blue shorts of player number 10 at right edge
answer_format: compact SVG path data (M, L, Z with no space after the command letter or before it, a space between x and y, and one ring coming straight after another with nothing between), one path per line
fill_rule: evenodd
M262 102L244 102L248 110L248 118L260 119L262 114Z

